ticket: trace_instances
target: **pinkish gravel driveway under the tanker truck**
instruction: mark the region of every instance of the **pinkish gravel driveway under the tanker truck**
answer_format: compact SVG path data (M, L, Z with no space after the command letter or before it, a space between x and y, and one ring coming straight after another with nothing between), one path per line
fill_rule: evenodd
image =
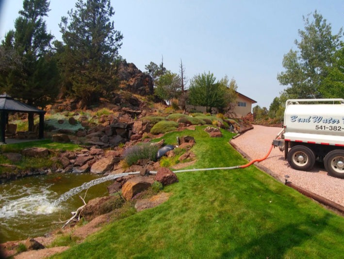
M277 127L254 125L254 129L232 139L231 142L246 154L248 160L262 158L269 151L272 140L280 130L281 128ZM263 171L267 168L266 171L269 171L267 173L283 183L284 175L287 174L290 176L288 180L295 185L344 206L344 179L328 175L322 163L315 163L314 168L309 172L297 171L290 167L287 160L284 160L283 152L273 148L267 159L255 165L262 166Z

